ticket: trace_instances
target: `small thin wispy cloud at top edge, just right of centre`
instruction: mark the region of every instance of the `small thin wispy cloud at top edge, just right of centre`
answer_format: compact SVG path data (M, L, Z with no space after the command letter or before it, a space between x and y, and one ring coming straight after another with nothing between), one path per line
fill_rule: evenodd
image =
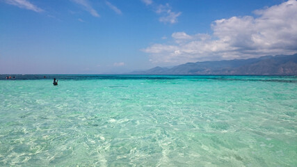
M177 17L179 17L179 15L182 14L181 12L178 12L178 13L172 12L171 6L169 5L169 3L166 3L165 5L162 5L162 4L158 5L151 0L142 0L142 1L143 3L145 3L145 5L152 6L155 13L161 15L161 17L159 17L159 22L170 23L170 24L177 23Z

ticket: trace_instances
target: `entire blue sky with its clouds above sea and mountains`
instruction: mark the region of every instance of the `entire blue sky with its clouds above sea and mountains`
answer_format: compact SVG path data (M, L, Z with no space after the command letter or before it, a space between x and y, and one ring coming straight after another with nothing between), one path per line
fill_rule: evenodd
M0 74L294 54L296 15L296 0L0 0Z

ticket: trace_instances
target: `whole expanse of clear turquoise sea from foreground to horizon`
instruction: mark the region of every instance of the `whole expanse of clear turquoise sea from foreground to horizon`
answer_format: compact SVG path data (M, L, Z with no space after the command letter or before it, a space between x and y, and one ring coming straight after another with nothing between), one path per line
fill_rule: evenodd
M0 166L297 165L297 77L5 77Z

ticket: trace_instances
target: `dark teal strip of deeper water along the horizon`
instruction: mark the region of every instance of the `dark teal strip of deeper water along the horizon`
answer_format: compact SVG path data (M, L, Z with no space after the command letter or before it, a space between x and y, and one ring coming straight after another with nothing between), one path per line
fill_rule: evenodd
M11 79L7 79L11 77ZM280 75L141 75L141 74L0 74L0 80L38 79L214 79L220 81L280 81L297 82L297 76Z

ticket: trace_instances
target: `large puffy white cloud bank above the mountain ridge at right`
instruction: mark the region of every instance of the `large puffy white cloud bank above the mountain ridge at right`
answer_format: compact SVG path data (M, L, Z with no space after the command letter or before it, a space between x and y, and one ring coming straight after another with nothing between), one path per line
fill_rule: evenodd
M171 45L142 49L154 63L186 63L297 52L297 1L255 10L257 17L231 17L211 24L209 34L172 33Z

